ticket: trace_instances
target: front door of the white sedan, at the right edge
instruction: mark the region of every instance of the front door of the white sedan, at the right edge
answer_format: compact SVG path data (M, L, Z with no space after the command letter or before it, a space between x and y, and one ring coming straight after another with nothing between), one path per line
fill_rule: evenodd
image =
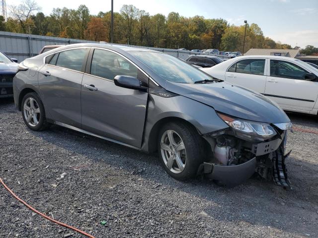
M306 79L310 73L286 60L269 60L265 96L285 110L312 111L318 97L318 82Z

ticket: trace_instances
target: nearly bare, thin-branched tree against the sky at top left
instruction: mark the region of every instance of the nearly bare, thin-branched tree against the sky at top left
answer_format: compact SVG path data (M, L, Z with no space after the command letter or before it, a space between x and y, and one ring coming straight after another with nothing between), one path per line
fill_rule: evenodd
M27 29L32 23L29 21L29 17L33 12L39 11L41 7L34 0L24 0L19 5L10 5L10 15L17 19L23 29L23 33L27 33Z

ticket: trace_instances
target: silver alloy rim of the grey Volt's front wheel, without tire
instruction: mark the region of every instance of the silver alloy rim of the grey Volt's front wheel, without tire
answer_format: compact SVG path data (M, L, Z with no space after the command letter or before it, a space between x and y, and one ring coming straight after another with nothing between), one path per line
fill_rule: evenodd
M165 166L175 174L186 165L186 151L181 137L174 130L166 130L160 141L161 156Z

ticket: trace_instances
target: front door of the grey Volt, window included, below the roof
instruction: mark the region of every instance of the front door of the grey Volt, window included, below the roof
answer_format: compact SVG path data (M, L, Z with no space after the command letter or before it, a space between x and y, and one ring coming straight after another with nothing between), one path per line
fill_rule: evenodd
M131 61L104 49L92 49L81 88L84 130L141 147L148 92L116 86L116 75L149 79ZM90 62L91 61L91 62Z

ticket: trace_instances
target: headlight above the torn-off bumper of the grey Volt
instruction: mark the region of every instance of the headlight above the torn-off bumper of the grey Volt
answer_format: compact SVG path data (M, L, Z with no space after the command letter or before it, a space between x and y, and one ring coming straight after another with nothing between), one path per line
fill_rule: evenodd
M233 129L245 132L250 135L261 136L262 138L270 138L276 135L275 129L267 123L250 121L244 119L237 119L218 113L219 117L223 119ZM251 136L248 136L249 138Z

